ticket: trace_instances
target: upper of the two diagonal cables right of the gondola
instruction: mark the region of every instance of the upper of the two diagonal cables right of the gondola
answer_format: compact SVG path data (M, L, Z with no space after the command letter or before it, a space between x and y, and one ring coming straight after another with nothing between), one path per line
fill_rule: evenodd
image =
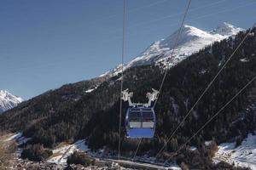
M203 91L203 93L201 94L201 96L196 100L195 104L191 107L191 109L189 110L189 112L187 113L186 116L184 116L182 122L180 122L177 126L177 128L173 131L172 135L167 139L166 144L168 144L168 142L172 139L172 137L174 136L174 134L177 132L178 128L182 126L183 122L185 122L185 120L188 118L188 116L190 115L190 113L194 110L195 105L197 105L199 103L199 101L201 100L201 98L204 96L204 94L207 93L207 90L212 86L212 83L216 80L216 78L218 77L218 75L221 73L221 71L224 70L225 66L229 63L230 59L232 59L232 57L234 56L234 54L236 54L236 51L241 47L241 44L247 39L247 37L250 35L250 33L253 31L253 27L250 28L250 30L247 32L246 36L243 37L243 39L241 40L241 42L238 44L238 46L236 47L236 49L233 51L232 54L230 54L230 57L226 60L226 62L224 63L224 65L221 67L221 69L218 71L218 73L216 74L215 77L212 78L212 81L207 85L207 88ZM155 104L155 103L154 103ZM156 157L159 156L160 152L162 150L165 149L166 144L164 144L164 146L160 149L160 151L157 153Z

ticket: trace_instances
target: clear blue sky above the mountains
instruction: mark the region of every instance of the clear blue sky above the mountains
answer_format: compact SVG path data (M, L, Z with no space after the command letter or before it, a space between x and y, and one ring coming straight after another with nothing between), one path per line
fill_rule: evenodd
M1 0L0 89L23 99L120 63L122 0ZM186 0L127 0L125 61L177 30ZM256 22L255 0L192 0L186 24Z

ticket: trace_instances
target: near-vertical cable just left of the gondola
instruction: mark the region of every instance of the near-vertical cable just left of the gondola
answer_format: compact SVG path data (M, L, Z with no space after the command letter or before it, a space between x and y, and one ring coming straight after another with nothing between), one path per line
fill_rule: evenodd
M119 112L119 154L120 159L120 146L121 146L121 124L122 124L122 91L124 82L124 57L125 57L125 26L126 26L126 0L123 1L123 42L122 42L122 65L121 65L121 82L120 82L120 112Z

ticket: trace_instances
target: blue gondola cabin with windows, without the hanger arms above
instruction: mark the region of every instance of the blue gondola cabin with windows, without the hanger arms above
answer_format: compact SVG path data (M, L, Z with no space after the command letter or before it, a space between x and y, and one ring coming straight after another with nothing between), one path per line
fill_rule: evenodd
M126 111L125 127L127 138L153 138L155 114L151 107L135 106Z

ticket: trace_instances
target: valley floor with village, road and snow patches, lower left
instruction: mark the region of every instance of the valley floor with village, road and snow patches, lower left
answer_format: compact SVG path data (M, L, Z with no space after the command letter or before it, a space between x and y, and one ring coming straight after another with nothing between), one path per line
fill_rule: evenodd
M22 137L21 133L15 134L7 134L1 141L4 144L9 144L9 142L16 142L16 144L26 143L28 139ZM28 161L20 159L20 153L22 149L18 148L15 153L12 154L12 159L9 160L11 163L9 164L9 169L63 169L67 167L67 157L72 155L74 151L89 151L87 145L84 144L84 140L78 140L74 144L61 143L53 151L53 155L49 157L47 161ZM165 167L161 165L154 165L150 162L139 162L139 161L131 161L128 158L121 157L120 160L116 158L116 156L102 156L98 153L90 152L91 156L96 158L96 166L90 167L79 167L73 165L76 168L83 169L119 169L121 166L123 170L129 169L174 169L179 170L180 167L172 166Z

